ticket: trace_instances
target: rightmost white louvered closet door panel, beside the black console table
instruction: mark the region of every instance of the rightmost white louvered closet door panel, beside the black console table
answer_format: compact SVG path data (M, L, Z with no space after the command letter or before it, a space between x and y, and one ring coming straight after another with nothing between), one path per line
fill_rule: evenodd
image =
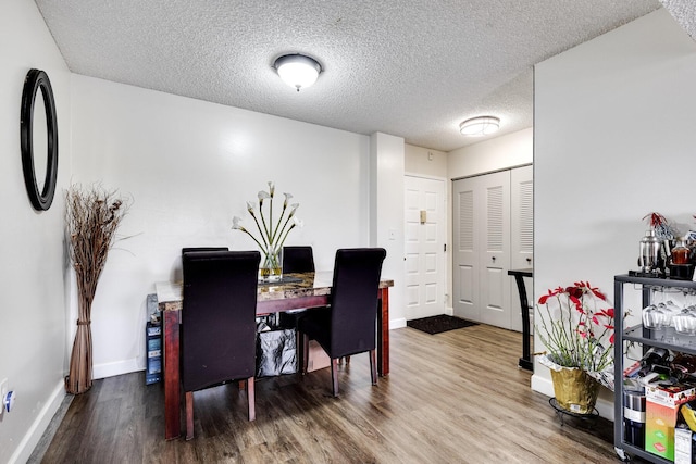
M518 167L510 172L511 189L511 259L510 267L513 269L534 268L534 170L532 166ZM511 278L512 279L512 278ZM533 279L525 277L524 285L529 299L534 298ZM522 331L522 310L520 294L515 284L510 291L512 318L510 321L513 330ZM533 303L529 301L527 303ZM533 304L532 304L533 305ZM530 311L530 327L534 327Z

